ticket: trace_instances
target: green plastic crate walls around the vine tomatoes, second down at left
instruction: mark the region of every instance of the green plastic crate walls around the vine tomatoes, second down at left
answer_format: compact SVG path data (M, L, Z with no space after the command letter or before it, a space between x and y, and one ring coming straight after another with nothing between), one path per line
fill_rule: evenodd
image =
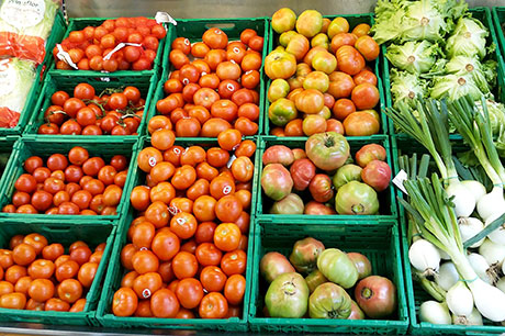
M96 91L97 94L99 94L103 89L106 88L120 88L120 87L126 87L126 86L134 86L141 90L142 98L146 100L145 108L144 108L144 115L141 121L141 124L138 125L137 133L138 135L143 135L144 131L146 131L146 117L147 117L147 109L150 104L150 100L154 93L154 90L156 88L156 85L158 83L158 76L157 74L153 76L124 76L124 75L116 75L114 74L104 74L104 76L97 77L97 75L92 77L87 77L87 76L81 76L80 74L76 74L72 76L57 76L53 77L52 75L48 75L45 82L44 87L42 88L42 92L38 97L36 107L34 109L34 113L32 114L26 128L24 131L25 135L36 135L37 137L46 137L47 135L41 135L37 134L38 127L44 123L44 112L45 110L52 105L50 103L50 97L53 96L54 92L64 90L67 93L70 94L70 97L74 96L74 88L80 83L80 82L87 82L91 85ZM124 139L136 139L138 138L138 135L122 135L122 136L113 136L114 138L124 138ZM79 135L58 135L59 138L69 138L69 139L75 139L76 137L79 138ZM86 135L86 138L101 138L103 139L103 136L110 137L110 135Z

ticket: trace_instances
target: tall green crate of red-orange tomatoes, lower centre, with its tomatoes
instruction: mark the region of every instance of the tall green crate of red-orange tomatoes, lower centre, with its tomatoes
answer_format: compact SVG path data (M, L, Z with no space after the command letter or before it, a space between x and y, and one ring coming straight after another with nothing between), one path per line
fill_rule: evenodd
M256 145L155 134L137 156L97 317L106 327L246 331Z

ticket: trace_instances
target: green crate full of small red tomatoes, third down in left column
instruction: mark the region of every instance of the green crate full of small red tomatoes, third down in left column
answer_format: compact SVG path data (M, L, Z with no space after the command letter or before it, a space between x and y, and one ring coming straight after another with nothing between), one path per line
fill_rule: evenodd
M1 186L0 221L117 224L136 142L23 137ZM86 216L86 217L85 217Z

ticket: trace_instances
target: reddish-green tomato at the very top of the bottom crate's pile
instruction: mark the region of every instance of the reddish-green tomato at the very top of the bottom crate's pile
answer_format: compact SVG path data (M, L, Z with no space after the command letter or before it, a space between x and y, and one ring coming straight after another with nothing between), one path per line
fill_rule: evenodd
M302 273L310 273L317 268L317 257L324 250L324 244L317 239L307 237L294 243L290 262Z

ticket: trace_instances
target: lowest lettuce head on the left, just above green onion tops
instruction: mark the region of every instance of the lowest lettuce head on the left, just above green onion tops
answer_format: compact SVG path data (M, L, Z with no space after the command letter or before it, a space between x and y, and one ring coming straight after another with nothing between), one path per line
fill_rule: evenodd
M399 71L391 69L391 93L393 94L394 108L397 108L400 101L405 101L413 109L415 105L415 98L426 96L426 80L420 79L418 76L407 71Z

